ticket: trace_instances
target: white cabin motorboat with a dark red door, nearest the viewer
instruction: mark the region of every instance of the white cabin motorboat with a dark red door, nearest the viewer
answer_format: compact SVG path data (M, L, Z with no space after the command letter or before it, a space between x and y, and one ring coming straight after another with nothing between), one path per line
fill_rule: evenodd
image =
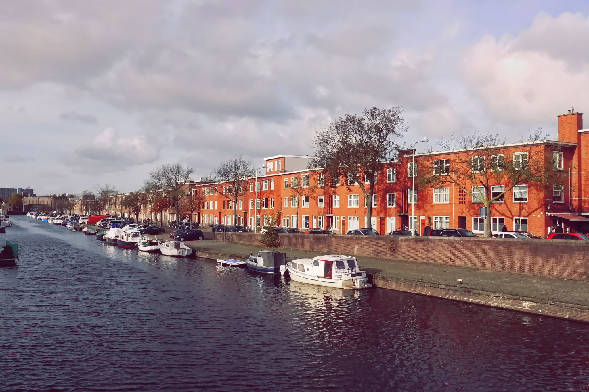
M358 265L355 257L343 254L325 254L313 259L297 259L280 267L283 274L288 273L295 282L316 284L317 286L337 287L339 289L368 289L368 275Z

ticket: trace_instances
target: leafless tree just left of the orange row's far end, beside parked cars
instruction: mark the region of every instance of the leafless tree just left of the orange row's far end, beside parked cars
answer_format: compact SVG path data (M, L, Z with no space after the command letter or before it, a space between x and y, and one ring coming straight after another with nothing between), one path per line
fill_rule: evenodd
M160 198L168 199L175 205L176 220L180 218L180 199L184 195L184 184L194 173L191 167L184 167L180 163L162 165L151 170L149 177L145 180L144 189L152 192Z

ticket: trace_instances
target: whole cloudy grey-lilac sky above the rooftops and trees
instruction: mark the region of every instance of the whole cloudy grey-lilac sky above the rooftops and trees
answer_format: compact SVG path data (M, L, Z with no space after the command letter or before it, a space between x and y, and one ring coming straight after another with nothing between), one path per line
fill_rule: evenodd
M589 2L0 2L0 187L138 190L165 163L312 155L345 113L402 106L397 142L508 142L589 110Z

